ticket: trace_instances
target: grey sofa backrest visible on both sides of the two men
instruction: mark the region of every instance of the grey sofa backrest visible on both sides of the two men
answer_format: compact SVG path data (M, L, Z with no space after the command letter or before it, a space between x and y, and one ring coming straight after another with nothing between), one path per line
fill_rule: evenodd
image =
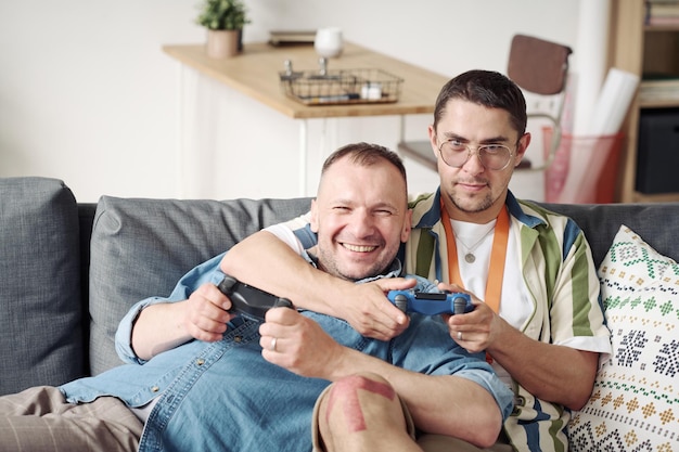
M169 295L196 264L266 225L306 212L309 206L309 198L218 202L103 196L91 241L91 372L120 363L113 337L134 302ZM679 218L679 204L546 206L582 228L597 266L623 223L659 251L679 257L669 228Z

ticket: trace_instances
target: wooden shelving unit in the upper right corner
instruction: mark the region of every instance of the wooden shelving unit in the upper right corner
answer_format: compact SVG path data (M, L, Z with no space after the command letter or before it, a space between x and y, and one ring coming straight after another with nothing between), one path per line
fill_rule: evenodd
M644 25L644 16L641 0L611 1L610 66L639 76L655 73L679 77L679 25ZM679 99L643 100L637 95L627 114L616 196L619 202L679 201L679 192L644 194L636 189L640 114L644 108L658 107L679 108Z

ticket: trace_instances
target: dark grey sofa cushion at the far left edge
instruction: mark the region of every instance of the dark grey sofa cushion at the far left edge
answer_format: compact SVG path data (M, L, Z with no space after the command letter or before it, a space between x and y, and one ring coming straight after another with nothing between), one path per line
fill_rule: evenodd
M82 375L79 249L62 181L0 179L0 393Z

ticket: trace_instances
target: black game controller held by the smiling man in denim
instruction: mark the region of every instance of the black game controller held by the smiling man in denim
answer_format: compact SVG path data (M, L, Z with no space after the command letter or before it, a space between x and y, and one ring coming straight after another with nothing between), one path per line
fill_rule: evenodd
M271 308L293 307L292 301L287 298L277 297L229 275L221 280L217 288L231 299L229 312L238 312L243 317L257 321L264 320L265 314Z

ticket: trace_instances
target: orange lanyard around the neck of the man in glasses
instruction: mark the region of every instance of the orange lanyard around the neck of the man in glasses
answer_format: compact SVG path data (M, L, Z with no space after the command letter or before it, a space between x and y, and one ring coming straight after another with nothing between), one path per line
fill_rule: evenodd
M444 202L440 203L440 217L446 230L446 242L448 245L448 279L450 283L464 288L460 276L460 266L458 263L458 246L456 245L450 217ZM507 260L507 243L509 241L509 212L503 207L498 215L495 225L495 236L492 238L492 250L490 253L490 267L488 269L488 280L486 281L485 302L496 313L500 310L500 298L502 297L502 279L504 277L504 261Z

